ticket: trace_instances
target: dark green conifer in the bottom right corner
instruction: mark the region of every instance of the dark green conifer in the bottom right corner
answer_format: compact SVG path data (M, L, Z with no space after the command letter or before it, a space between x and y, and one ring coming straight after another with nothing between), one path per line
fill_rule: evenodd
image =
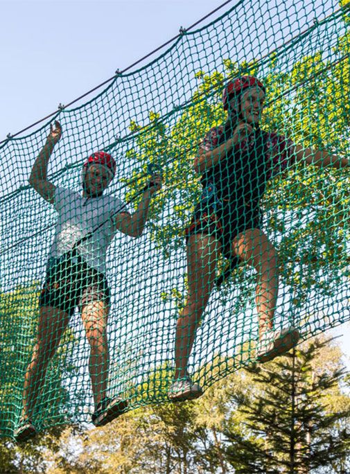
M232 394L245 430L226 432L227 455L237 474L304 474L349 466L350 402L339 392L344 369L320 365L326 348L328 342L315 340L276 362L247 369L254 391Z

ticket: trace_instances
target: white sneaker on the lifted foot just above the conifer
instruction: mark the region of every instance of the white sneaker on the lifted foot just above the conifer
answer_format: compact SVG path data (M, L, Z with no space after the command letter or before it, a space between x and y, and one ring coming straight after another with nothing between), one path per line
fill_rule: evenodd
M296 346L299 339L300 333L293 326L282 329L282 331L268 329L256 344L256 360L263 363L282 356Z

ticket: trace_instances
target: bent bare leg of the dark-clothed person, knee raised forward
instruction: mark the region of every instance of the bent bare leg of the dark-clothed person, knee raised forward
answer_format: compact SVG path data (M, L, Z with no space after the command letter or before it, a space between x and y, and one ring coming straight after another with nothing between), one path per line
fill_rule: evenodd
M232 242L232 249L257 274L256 309L259 314L259 336L273 327L279 290L277 251L260 229L248 229Z

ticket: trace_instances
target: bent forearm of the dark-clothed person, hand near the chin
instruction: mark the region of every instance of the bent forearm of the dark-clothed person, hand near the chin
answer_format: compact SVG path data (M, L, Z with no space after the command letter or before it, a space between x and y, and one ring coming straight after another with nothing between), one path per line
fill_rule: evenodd
M208 170L212 166L216 166L221 159L224 159L227 156L227 152L231 150L237 143L252 133L253 129L247 123L238 123L233 136L221 143L213 150L205 150L202 146L200 146L198 150L198 155L195 157L195 161L193 164L193 168L195 173L198 175L202 175L204 171Z

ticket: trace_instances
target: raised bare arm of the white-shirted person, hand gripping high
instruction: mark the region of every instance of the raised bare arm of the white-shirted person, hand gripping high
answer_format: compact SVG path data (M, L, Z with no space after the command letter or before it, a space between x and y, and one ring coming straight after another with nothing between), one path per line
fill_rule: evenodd
M56 143L60 140L62 135L62 128L58 121L55 121L55 128L50 124L50 133L46 139L44 148L42 148L29 177L29 184L33 186L35 191L39 193L44 200L50 204L54 203L55 200L55 185L49 182L47 178L47 167L49 159L52 155L53 148Z

